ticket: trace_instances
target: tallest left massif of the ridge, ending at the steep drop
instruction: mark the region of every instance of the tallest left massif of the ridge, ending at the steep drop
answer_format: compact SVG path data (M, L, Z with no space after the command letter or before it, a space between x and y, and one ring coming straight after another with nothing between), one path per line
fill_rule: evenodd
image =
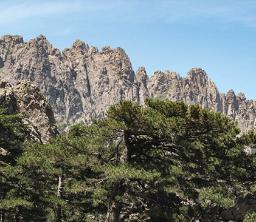
M121 48L103 47L99 52L76 40L61 54L43 35L29 42L21 36L3 36L0 56L4 58L1 76L38 86L63 127L99 118L119 100L139 101L130 59Z

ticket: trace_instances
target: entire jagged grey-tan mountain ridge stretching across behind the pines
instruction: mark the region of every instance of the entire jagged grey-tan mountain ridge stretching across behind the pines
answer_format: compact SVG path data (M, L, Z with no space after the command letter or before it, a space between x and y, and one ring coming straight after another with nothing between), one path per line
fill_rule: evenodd
M61 53L43 35L29 42L22 36L6 35L0 39L0 75L12 83L33 82L51 104L60 130L102 117L120 100L144 104L147 97L198 103L238 120L243 131L256 129L256 101L247 101L232 90L219 93L200 68L191 69L187 78L168 70L148 78L144 67L135 75L119 47L105 46L99 52L76 40Z

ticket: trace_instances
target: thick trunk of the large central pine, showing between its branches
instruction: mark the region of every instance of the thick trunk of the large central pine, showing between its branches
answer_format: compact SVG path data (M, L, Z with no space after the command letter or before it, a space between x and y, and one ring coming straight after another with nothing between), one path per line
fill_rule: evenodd
M131 158L131 147L129 141L130 134L124 132L123 140L125 142L125 148L120 156L119 162L125 164L130 161ZM125 184L123 180L116 181L112 186L111 197L109 198L108 211L106 213L105 222L119 222L120 212L122 210L122 201L117 200L117 196L122 197L125 193Z

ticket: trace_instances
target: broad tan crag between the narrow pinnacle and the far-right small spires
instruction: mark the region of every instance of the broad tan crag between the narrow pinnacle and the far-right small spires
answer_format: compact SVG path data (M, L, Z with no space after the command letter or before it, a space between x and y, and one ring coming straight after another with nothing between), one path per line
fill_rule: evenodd
M152 97L183 100L187 104L201 104L221 111L218 89L202 69L191 69L187 78L168 70L164 73L157 71L150 79L150 86Z

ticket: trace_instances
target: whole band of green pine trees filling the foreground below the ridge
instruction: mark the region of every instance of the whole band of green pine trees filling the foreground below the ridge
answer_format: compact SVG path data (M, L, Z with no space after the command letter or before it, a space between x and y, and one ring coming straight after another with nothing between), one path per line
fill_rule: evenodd
M46 144L0 109L1 221L204 221L255 193L254 132L198 105L145 104L122 101Z

